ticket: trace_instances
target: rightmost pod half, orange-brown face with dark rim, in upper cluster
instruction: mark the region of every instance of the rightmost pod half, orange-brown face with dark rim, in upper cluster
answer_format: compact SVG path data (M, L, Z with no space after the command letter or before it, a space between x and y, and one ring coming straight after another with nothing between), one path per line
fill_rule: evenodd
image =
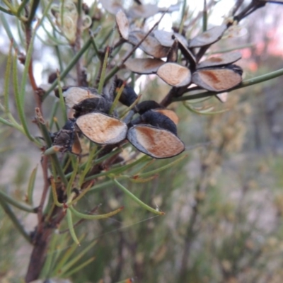
M227 91L242 82L242 74L243 70L237 65L198 69L192 74L192 83L207 91Z

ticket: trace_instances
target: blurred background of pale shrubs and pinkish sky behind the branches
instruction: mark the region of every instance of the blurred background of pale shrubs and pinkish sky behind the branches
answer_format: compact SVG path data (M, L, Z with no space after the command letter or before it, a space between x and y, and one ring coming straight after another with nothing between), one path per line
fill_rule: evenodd
M92 5L93 2L89 2ZM219 3L211 11L210 26L219 24L219 19L221 23L222 16L227 16L233 6L233 1L215 2ZM202 7L189 9L192 18L199 13L198 9ZM174 12L164 21L170 18L174 25L178 23L178 15ZM282 15L282 5L267 4L213 45L209 53L240 47L242 59L238 64L243 67L244 79L282 69ZM103 17L105 21L114 18L110 14ZM18 37L15 23L10 22ZM197 29L197 24L194 23L196 34L201 30ZM8 45L5 30L0 25L0 74L5 73ZM48 76L59 68L54 48L38 39L34 60L37 83L43 88ZM0 89L4 85L3 77L0 77ZM160 100L169 90L156 76L139 77L136 87L144 98L154 93ZM226 103L215 97L201 103L202 107L213 106L216 111L227 110L215 115L198 115L189 112L182 103L173 103L171 108L180 117L178 134L185 142L187 157L148 183L123 183L141 200L166 214L153 216L128 200L115 186L89 193L80 203L82 212L89 212L100 203L105 211L121 205L125 209L111 219L84 221L76 228L76 233L85 237L81 242L83 247L97 241L81 262L93 256L96 259L72 275L71 282L114 283L134 278L134 282L149 283L281 283L282 90L283 79L279 77L231 91ZM54 99L53 96L47 99L45 116ZM25 114L30 121L34 108L33 96L27 96ZM33 134L37 133L31 122L30 129ZM35 203L39 202L36 197L42 191L40 152L22 139L19 132L4 125L0 125L0 132L0 186L23 199L29 175L38 166ZM167 160L154 161L151 168L166 163ZM18 218L28 231L33 231L35 216L19 213ZM63 230L64 224L60 228ZM58 241L57 249L67 250L72 240L67 233L62 235L64 241ZM0 247L0 281L21 282L31 246L15 232L1 209Z

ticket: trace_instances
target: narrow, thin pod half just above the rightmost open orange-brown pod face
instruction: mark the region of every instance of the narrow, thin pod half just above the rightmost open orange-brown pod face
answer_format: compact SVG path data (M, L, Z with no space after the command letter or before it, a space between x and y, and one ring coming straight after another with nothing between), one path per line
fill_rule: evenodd
M197 64L197 69L216 66L221 67L224 65L233 64L241 58L242 55L240 52L225 53L217 57L210 57L209 59L200 62L200 64Z

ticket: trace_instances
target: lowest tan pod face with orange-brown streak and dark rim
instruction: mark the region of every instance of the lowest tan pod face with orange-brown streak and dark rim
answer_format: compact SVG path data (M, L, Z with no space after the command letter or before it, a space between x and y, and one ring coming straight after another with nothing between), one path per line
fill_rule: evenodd
M151 125L135 125L127 132L128 141L153 158L170 158L184 151L185 145L167 129Z

